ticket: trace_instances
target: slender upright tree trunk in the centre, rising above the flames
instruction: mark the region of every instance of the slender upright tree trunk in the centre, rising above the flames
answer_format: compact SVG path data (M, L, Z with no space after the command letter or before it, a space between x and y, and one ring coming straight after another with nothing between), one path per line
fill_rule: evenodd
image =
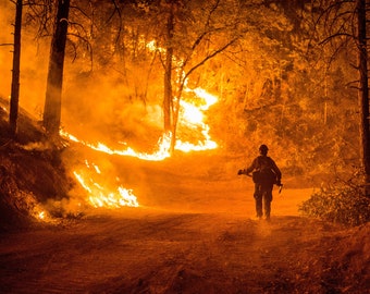
M172 58L173 58L173 27L174 27L173 4L166 23L166 48L164 63L164 98L163 98L163 119L164 132L171 132L171 108L172 108Z

